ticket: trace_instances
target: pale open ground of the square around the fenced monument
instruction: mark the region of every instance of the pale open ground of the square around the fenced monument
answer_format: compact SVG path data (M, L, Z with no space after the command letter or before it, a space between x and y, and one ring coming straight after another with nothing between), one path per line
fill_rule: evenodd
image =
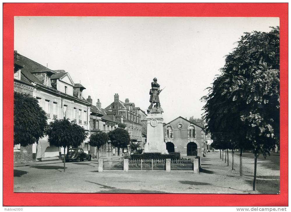
M258 191L252 191L253 159L245 157L244 176L239 177L239 155L235 170L219 159L219 152L202 158L200 174L185 171L104 171L98 173L97 161L63 164L51 162L22 164L14 168L14 192L76 193L278 193L278 164L258 160ZM270 168L268 166L273 166ZM274 168L277 167L277 168Z

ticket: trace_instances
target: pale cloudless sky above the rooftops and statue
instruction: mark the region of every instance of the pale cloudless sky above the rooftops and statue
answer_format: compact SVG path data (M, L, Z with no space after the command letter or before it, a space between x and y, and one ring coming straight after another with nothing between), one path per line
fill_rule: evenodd
M224 55L244 32L279 26L279 18L15 17L14 50L52 70L64 69L102 108L126 98L144 111L158 78L164 122L200 118Z

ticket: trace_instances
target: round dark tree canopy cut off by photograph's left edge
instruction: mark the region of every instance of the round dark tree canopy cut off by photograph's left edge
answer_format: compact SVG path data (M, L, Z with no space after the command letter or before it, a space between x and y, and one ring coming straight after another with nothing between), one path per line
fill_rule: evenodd
M14 145L31 145L44 136L47 117L38 100L14 92Z

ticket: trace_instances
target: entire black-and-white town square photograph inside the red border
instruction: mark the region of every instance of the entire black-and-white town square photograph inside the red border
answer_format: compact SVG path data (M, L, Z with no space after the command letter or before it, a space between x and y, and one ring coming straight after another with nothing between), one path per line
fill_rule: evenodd
M279 194L279 25L15 16L14 192Z

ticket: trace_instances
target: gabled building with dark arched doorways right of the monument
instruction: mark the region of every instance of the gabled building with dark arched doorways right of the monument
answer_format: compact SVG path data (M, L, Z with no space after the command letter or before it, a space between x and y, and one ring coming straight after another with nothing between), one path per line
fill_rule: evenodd
M203 127L179 116L163 125L168 152L180 152L181 156L202 156L204 150Z

